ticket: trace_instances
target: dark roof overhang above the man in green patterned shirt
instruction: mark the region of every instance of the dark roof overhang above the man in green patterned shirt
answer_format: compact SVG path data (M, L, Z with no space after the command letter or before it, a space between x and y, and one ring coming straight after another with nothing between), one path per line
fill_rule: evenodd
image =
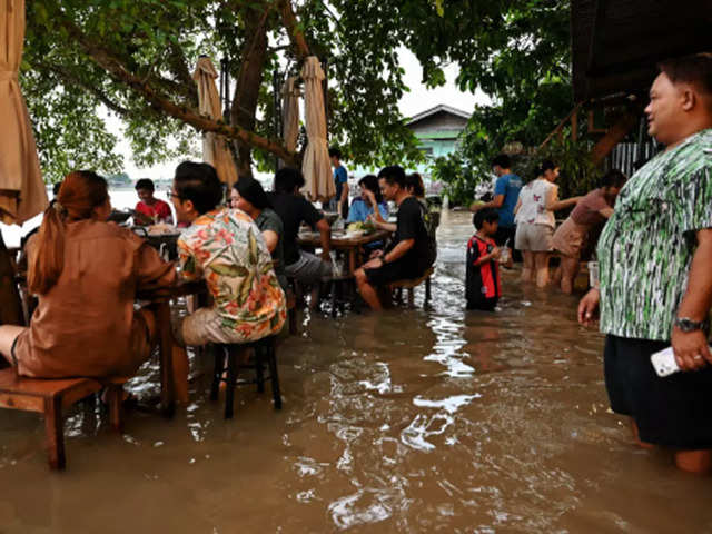
M574 98L646 92L664 59L712 50L709 0L572 0Z

